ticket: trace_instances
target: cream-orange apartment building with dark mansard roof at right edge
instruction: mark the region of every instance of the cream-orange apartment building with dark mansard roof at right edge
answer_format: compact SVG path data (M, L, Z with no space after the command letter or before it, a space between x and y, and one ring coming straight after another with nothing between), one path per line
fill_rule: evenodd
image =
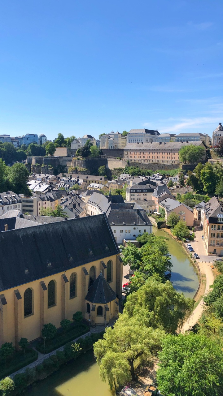
M204 206L204 248L208 255L223 255L223 202L215 195Z

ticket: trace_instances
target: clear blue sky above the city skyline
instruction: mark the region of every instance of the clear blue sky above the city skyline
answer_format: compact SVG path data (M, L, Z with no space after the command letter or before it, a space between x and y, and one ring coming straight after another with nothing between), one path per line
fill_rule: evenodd
M0 5L0 133L206 132L223 122L221 0Z

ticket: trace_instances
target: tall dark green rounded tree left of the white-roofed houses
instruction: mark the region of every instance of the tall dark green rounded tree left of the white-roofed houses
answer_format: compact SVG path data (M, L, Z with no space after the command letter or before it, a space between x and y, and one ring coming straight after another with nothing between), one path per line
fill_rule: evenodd
M8 169L8 178L11 184L10 187L15 194L24 194L25 196L32 195L27 186L29 171L24 164L13 164L13 166Z

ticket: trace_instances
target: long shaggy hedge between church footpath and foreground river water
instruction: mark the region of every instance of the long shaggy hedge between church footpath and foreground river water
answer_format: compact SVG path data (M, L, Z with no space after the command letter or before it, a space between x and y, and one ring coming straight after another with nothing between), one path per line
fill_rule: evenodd
M13 379L15 383L15 389L11 392L8 392L8 395L15 396L20 394L27 386L48 377L48 375L54 373L54 371L57 371L64 363L77 359L79 355L92 348L94 343L103 337L103 334L104 331L101 331L100 333L92 333L89 337L85 337L85 339L78 339L77 344L80 344L81 350L79 350L79 352L75 355L71 350L71 345L73 343L67 343L64 346L64 351L58 350L56 351L56 354L50 356L50 358L46 358L42 364L39 364L33 369L27 368L25 373L16 374Z

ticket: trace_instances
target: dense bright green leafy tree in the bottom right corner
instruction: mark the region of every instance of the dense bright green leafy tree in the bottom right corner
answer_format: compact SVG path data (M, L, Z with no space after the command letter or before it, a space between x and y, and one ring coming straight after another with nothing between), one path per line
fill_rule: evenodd
M165 396L215 396L223 385L221 344L199 334L162 339L157 382Z

